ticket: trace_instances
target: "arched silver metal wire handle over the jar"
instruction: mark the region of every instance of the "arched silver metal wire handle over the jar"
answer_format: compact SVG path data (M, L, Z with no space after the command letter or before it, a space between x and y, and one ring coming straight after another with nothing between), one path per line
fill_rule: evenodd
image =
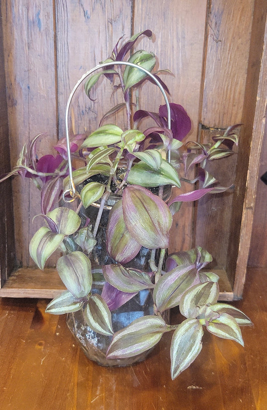
M69 136L69 111L70 111L70 106L71 106L71 102L73 99L73 96L77 90L77 88L80 86L80 84L87 78L89 77L91 74L93 74L95 71L101 69L101 68L105 68L105 67L110 67L110 66L130 66L130 67L134 67L137 68L141 71L143 71L144 73L146 73L150 78L152 78L152 80L157 84L157 86L159 87L161 93L163 94L164 100L166 102L166 106L167 106L167 119L168 119L168 129L171 129L171 114L170 114L170 104L167 98L167 95L164 91L164 88L162 87L162 85L160 84L159 80L152 74L150 73L150 71L146 70L145 68L143 68L142 66L138 66L137 64L134 63L129 63L128 61L114 61L114 62L108 62L108 63L102 63L99 64L98 66L95 66L94 68L92 68L90 71L88 71L87 73L85 73L80 80L78 80L78 82L76 83L76 85L73 87L72 92L70 93L68 102L67 102L67 106L66 106L66 116L65 116L65 126L66 126L66 140L67 140L67 154L68 154L68 163L69 163L69 176L70 176L70 188L66 189L63 192L63 199L65 200L65 202L72 202L76 199L77 193L76 193L76 187L75 187L75 183L73 180L73 174L72 174L72 162L71 162L71 147L70 147L70 136ZM168 160L170 160L169 158L169 152L168 152ZM71 199L67 199L66 198L66 194L70 194L71 195Z

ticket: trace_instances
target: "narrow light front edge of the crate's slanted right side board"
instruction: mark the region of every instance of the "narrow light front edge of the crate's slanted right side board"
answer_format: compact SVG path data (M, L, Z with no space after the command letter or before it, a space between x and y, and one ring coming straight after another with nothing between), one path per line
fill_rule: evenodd
M254 208L255 208L255 194L256 194L256 186L257 186L257 177L258 177L258 169L259 169L259 158L260 158L260 151L265 131L265 122L266 122L266 112L267 112L267 51L266 51L266 42L267 42L267 4L262 4L262 7L259 8L258 14L256 17L261 16L261 24L258 24L258 19L256 19L255 24L257 24L257 33L259 35L256 37L257 41L260 42L259 44L262 45L262 55L260 59L260 71L259 71L259 79L258 79L258 86L255 94L255 90L250 86L250 83L247 83L246 92L249 96L252 96L255 100L255 110L253 111L253 117L251 118L251 107L249 104L244 105L243 110L243 119L244 121L248 121L251 119L251 123L247 122L246 128L246 138L251 135L251 144L250 149L247 152L247 149L244 149L244 162L247 157L248 160L248 170L247 170L247 177L244 181L241 179L240 173L237 173L237 182L240 181L238 186L240 186L240 192L242 193L242 189L244 190L244 202L243 202L243 212L241 216L241 227L240 227L240 238L239 238L239 249L238 249L238 256L236 261L236 269L235 269L235 281L234 281L234 294L236 298L241 297L242 289L245 282L245 273L246 273L246 265L248 259L248 252L249 252L249 245L251 239L251 231L252 231L252 223L253 223L253 216L254 216ZM261 30L265 29L264 31L264 38L260 37ZM255 38L252 38L255 40ZM253 49L253 42L251 43L251 48ZM254 50L252 50L252 56L255 58ZM251 58L252 58L251 56ZM258 61L258 59L256 60ZM258 68L258 65L256 66ZM250 73L252 75L252 73ZM248 79L249 81L249 76ZM247 100L246 100L247 101ZM237 166L239 164L237 163ZM240 165L239 165L240 166ZM244 186L245 183L245 186ZM234 198L234 207L236 211L238 211L238 206L236 204L237 195ZM232 224L232 228L234 229L235 226ZM233 232L233 237L235 232Z

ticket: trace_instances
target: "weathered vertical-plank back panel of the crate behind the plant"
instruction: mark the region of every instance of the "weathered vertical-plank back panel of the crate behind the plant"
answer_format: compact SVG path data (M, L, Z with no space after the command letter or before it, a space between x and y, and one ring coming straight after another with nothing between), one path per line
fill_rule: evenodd
M173 76L164 76L164 81L171 90L171 101L182 104L192 119L188 139L210 138L199 132L199 123L204 128L225 128L241 122L247 75L249 70L254 75L256 71L251 68L253 62L249 57L251 39L254 36L257 43L263 36L265 8L264 0L176 0L169 2L168 7L161 0L3 1L11 164L15 165L23 144L40 132L48 133L40 152L50 152L56 141L65 136L65 107L77 80L107 58L121 36L126 39L148 28L154 33L152 40L143 39L138 47L154 52L160 61L159 68L172 71ZM257 50L259 60L261 50ZM147 98L141 100L142 106L156 110L163 103L155 87L148 85L143 91ZM96 101L92 102L85 99L82 92L78 94L70 125L74 132L89 132L97 126L103 112L114 104L104 82L95 97ZM245 137L241 135L241 138ZM264 141L266 138L265 135ZM265 157L262 153L262 173ZM228 167L227 163L224 166ZM235 163L232 166L234 168ZM259 245L260 253L255 252L257 233L267 233L266 189L260 181L249 259L251 264L260 266L266 265L267 260L263 241ZM31 267L28 246L38 228L38 220L32 224L32 219L40 213L39 192L28 179L17 178L13 181L13 197L17 265ZM230 213L231 202L225 198ZM218 208L219 202L219 198L217 203L212 202L210 209ZM202 245L202 227L207 214L210 216L209 212L201 211L201 203L197 210L191 204L183 204L172 234L173 250L188 249L195 242ZM230 232L227 215L222 218L226 221L225 233ZM198 222L194 224L196 216ZM220 219L218 213L216 218ZM208 241L203 240L203 245L212 250L214 235L216 237L216 230ZM215 253L221 245L218 240L216 243ZM227 243L228 239L225 254ZM50 265L54 262L52 259ZM224 267L225 261L218 264Z

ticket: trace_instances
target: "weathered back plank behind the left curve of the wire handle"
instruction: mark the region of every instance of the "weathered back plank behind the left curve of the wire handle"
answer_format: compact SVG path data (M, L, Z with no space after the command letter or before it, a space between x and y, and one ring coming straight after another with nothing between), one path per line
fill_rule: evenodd
M131 35L131 1L56 2L59 137L65 136L65 110L69 94L79 78L108 58L123 35ZM94 90L96 101L85 96L83 87L73 100L74 133L89 133L115 102L110 100L107 80ZM79 92L80 91L80 92ZM72 112L71 112L72 113Z

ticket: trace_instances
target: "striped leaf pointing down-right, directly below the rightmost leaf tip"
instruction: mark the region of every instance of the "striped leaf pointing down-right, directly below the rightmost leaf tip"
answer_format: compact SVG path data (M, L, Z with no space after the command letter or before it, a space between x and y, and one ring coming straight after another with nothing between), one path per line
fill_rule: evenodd
M209 322L206 327L207 330L215 336L234 340L244 346L241 330L237 321L227 313L221 313L219 318Z

